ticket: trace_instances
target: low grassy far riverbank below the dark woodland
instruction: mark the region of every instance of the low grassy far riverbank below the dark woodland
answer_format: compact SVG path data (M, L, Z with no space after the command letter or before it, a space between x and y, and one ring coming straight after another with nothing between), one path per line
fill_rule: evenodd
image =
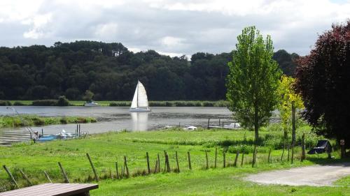
M0 105L3 106L20 106L20 105L36 105L36 106L50 106L53 105L53 100L38 101L35 100L0 100ZM52 103L51 103L52 102ZM130 106L131 101L123 100L99 100L95 101L99 106L112 106L112 107L125 107ZM69 100L70 106L83 106L84 100ZM228 107L228 101L226 100L160 100L160 101L149 101L151 107Z

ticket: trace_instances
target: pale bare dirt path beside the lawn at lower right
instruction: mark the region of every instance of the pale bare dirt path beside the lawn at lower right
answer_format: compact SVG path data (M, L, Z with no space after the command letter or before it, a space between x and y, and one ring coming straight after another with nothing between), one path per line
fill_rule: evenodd
M291 186L332 186L334 181L347 175L350 175L350 163L315 165L262 172L249 175L246 180L256 183Z

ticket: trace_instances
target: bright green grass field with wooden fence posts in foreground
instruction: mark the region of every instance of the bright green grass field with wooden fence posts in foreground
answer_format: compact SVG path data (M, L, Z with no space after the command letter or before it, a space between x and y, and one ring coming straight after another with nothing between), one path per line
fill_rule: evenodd
M307 128L298 130L297 137ZM265 128L260 132L263 139L279 140L282 133ZM271 137L270 135L274 135ZM71 182L93 182L93 173L87 160L90 153L101 181L99 189L91 195L350 195L349 188L313 188L307 186L260 186L244 181L246 174L269 169L281 169L328 162L325 155L320 158L311 156L300 162L300 149L295 149L295 162L286 161L287 152L281 161L281 149L278 145L272 151L272 163L267 163L269 142L258 148L257 165L251 167L252 153L245 154L244 164L232 167L235 151L239 146L251 146L253 132L246 130L157 130L149 132L120 132L91 135L85 139L61 140L41 144L16 144L0 147L1 165L7 165L18 179L20 186L27 186L19 169L22 169L33 183L47 182L43 170L48 172L52 181L63 182L57 162L62 163ZM317 140L315 137L313 140ZM316 142L316 141L314 141ZM276 144L279 142L275 142ZM217 168L214 169L214 154L218 148ZM249 148L248 148L249 149ZM160 168L164 169L164 152L169 154L172 171L176 168L175 151L179 154L180 173L146 174L146 152L149 153L151 168L155 167L157 154L160 154ZM190 151L193 169L188 169L187 152ZM205 169L205 151L208 151L209 167ZM227 151L223 168L223 151ZM248 151L247 151L248 152ZM338 158L338 153L334 153ZM115 162L123 165L123 156L132 177L116 180ZM331 161L339 161L331 160ZM120 172L120 168L119 168ZM6 172L0 170L0 190L13 188Z

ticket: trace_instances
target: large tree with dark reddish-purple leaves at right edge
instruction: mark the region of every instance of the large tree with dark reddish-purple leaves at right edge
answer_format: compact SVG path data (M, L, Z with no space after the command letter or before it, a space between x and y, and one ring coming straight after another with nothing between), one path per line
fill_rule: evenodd
M318 36L297 64L295 89L304 100L304 118L316 133L350 147L350 20Z

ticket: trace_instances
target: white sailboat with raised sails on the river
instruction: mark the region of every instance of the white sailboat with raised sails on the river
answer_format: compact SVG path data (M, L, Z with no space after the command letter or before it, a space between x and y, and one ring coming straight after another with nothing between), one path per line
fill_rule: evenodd
M148 99L145 86L139 80L137 81L134 98L132 98L130 112L151 112L151 108L148 107Z

